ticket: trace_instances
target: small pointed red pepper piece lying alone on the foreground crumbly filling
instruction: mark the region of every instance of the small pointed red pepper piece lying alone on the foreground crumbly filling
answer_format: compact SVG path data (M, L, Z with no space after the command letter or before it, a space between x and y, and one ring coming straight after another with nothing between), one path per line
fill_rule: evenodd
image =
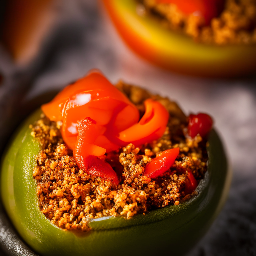
M165 173L174 164L179 152L179 148L172 148L163 151L161 155L157 156L146 165L143 175L149 178L156 178L157 176Z

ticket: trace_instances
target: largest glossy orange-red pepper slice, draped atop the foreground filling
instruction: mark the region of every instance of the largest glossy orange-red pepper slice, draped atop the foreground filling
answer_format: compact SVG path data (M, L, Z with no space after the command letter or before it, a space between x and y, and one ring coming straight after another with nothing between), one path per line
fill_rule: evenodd
M136 106L97 71L67 86L50 103L44 104L42 110L50 120L63 121L62 136L72 150L79 123L86 117L108 126L108 134L115 135L139 120ZM98 141L101 145L109 140L106 136L101 138L103 141ZM117 148L115 144L108 144L107 151Z

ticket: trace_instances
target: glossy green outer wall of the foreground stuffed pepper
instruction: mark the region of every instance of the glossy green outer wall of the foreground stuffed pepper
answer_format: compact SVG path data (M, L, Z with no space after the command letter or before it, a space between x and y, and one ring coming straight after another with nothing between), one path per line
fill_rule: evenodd
M33 113L20 127L1 166L1 197L24 241L40 255L182 255L207 231L226 199L231 172L222 143L209 136L209 166L197 188L199 194L179 205L152 210L129 220L101 218L90 222L92 231L63 231L41 213L32 169L40 146L30 135Z

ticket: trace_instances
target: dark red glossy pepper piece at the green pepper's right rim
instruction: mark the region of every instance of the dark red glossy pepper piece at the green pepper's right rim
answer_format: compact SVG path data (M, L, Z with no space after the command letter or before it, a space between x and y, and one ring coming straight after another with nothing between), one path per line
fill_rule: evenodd
M212 129L212 118L203 113L197 115L190 114L188 123L188 134L194 138L197 134L201 137L205 137Z

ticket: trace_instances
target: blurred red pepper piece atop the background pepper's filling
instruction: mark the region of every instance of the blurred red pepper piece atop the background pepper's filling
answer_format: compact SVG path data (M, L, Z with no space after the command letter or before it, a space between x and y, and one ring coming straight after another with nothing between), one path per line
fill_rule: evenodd
M205 19L209 25L212 18L217 17L223 10L223 0L157 0L158 3L175 4L185 14L195 14Z

